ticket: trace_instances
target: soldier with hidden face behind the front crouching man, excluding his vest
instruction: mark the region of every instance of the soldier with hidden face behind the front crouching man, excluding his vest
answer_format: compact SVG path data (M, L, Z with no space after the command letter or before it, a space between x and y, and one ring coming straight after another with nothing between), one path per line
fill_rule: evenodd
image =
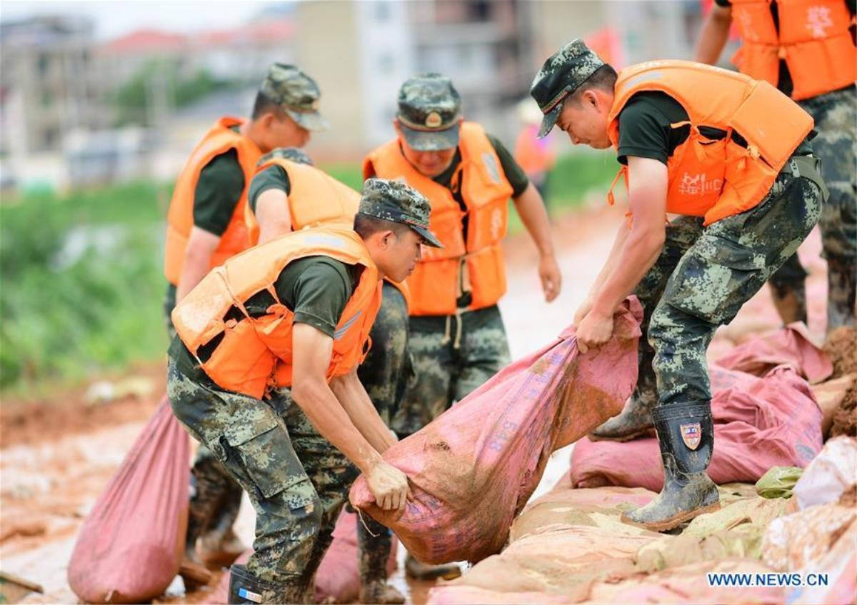
M297 147L280 147L271 153L266 153L259 160L259 165L265 165L270 159L283 158L304 165L313 165L312 159ZM270 165L256 173L250 182L248 192L249 207L256 213L257 220L261 214L256 211L262 204L266 212L272 213L271 207L276 207L278 213L289 213L290 205L298 203L290 199L293 184L288 171L282 165ZM274 192L261 201L262 194ZM311 203L324 203L323 195L315 197ZM276 216L276 215L274 215ZM273 225L284 226L291 219L271 217ZM295 225L291 225L294 228ZM267 229L260 243L265 243L265 237L282 235L279 231ZM373 346L369 355L357 368L360 379L369 398L375 404L379 416L389 426L390 417L399 406L405 392L407 380L413 374L411 356L408 355L408 307L405 297L399 288L387 280L382 285L383 300L372 331ZM357 524L358 565L360 569L359 600L363 603L390 604L405 602L399 590L387 583L387 559L393 549L393 533L387 526L378 523L371 517L363 518L363 523Z

